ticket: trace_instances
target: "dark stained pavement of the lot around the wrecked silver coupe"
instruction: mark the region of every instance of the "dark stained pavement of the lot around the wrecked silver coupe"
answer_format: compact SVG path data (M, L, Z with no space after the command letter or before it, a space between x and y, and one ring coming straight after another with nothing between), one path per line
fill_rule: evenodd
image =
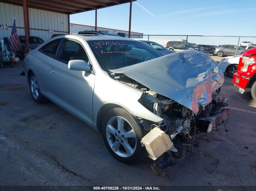
M256 102L227 75L228 135L223 126L196 138L194 151L158 177L151 159L122 164L99 132L52 102L35 103L21 72L21 63L0 69L0 185L256 186Z

